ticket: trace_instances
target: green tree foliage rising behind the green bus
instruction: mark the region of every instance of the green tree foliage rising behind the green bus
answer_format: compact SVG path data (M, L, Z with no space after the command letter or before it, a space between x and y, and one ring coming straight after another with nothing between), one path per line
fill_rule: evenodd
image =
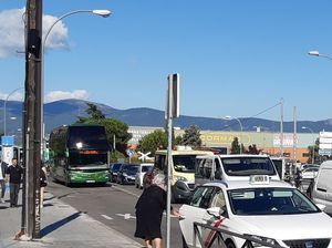
M92 103L86 104L87 108L85 112L89 116L79 117L77 122L104 126L108 143L113 145L115 137L115 149L121 153L125 153L127 142L132 138L132 135L128 133L128 125L115 118L106 118L96 105Z

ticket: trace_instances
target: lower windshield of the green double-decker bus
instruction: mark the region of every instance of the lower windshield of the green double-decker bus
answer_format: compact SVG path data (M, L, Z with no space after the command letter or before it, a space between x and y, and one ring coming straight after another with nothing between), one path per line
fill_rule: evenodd
M81 154L79 152L71 152L69 164L72 167L104 165L107 164L107 154Z

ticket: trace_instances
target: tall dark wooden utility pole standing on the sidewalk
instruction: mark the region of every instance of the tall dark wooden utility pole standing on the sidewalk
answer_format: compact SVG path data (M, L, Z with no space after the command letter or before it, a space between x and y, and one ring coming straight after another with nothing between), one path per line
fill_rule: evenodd
M40 237L42 0L27 0L22 232Z

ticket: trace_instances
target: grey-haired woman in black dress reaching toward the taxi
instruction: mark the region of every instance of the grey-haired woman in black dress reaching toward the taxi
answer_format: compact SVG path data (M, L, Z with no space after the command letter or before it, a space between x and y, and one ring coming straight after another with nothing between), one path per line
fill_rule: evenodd
M166 209L167 194L165 192L165 176L155 175L153 184L144 189L137 200L136 208L136 231L135 237L145 240L145 247L162 247L162 218ZM178 211L172 208L172 214L179 217Z

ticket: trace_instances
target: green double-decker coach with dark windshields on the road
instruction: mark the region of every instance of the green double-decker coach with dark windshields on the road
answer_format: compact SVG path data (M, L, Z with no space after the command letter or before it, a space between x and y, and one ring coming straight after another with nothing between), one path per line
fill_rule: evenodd
M50 174L65 185L106 183L110 178L110 145L105 128L73 124L52 131L49 140Z

